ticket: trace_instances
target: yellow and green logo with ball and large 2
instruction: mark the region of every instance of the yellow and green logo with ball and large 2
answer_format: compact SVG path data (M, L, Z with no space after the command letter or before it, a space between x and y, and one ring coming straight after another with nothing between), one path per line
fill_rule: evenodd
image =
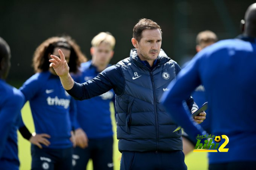
M222 140L221 137L222 139L225 139L225 142L219 147L219 142ZM219 150L219 152L228 152L228 148L224 148L229 142L228 136L221 135L221 137L214 135L196 136L197 142L193 152L218 152L217 149ZM206 140L204 140L204 145L200 143L203 138L206 138ZM216 145L215 143L212 143L213 138L214 141L217 142Z

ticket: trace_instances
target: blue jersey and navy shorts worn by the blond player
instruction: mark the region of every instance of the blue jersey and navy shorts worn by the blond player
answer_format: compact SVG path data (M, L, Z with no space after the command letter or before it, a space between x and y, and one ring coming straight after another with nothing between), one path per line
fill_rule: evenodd
M98 75L92 61L82 63L80 73L73 78L84 83ZM74 170L86 169L92 158L94 170L113 169L113 130L110 113L110 102L114 102L115 94L110 91L93 97L90 100L77 101L77 118L75 129L82 128L89 139L87 148L74 148Z

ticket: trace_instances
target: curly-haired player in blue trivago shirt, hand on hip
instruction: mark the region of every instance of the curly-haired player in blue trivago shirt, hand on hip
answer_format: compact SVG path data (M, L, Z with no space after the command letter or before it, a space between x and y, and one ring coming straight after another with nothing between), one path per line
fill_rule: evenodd
M48 61L51 54L58 55L58 49L66 53L72 73L77 73L80 63L86 61L78 45L69 37L49 38L41 43L34 53L33 66L36 74L30 77L20 90L25 100L30 102L36 134L48 134L50 138L41 136L35 139L37 141L30 140L32 170L72 169L75 101L60 88L60 79L54 69L49 67Z

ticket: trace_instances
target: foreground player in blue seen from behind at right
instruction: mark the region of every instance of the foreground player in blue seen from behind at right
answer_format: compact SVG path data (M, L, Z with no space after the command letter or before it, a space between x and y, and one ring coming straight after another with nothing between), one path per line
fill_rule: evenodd
M180 71L170 91L163 95L164 106L188 135L202 135L193 126L182 106L186 95L204 85L211 132L225 141L227 152L210 152L210 170L254 170L256 164L256 3L245 14L244 32L235 39L222 40L200 51ZM189 86L185 86L189 84Z

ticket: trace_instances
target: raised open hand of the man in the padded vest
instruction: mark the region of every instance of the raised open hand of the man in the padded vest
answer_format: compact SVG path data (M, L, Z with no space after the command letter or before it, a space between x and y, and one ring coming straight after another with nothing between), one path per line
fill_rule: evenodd
M50 59L49 61L51 62L50 67L53 67L56 74L62 77L68 75L69 67L62 51L58 49L58 52L60 54L60 58L56 55L51 55L52 59Z

